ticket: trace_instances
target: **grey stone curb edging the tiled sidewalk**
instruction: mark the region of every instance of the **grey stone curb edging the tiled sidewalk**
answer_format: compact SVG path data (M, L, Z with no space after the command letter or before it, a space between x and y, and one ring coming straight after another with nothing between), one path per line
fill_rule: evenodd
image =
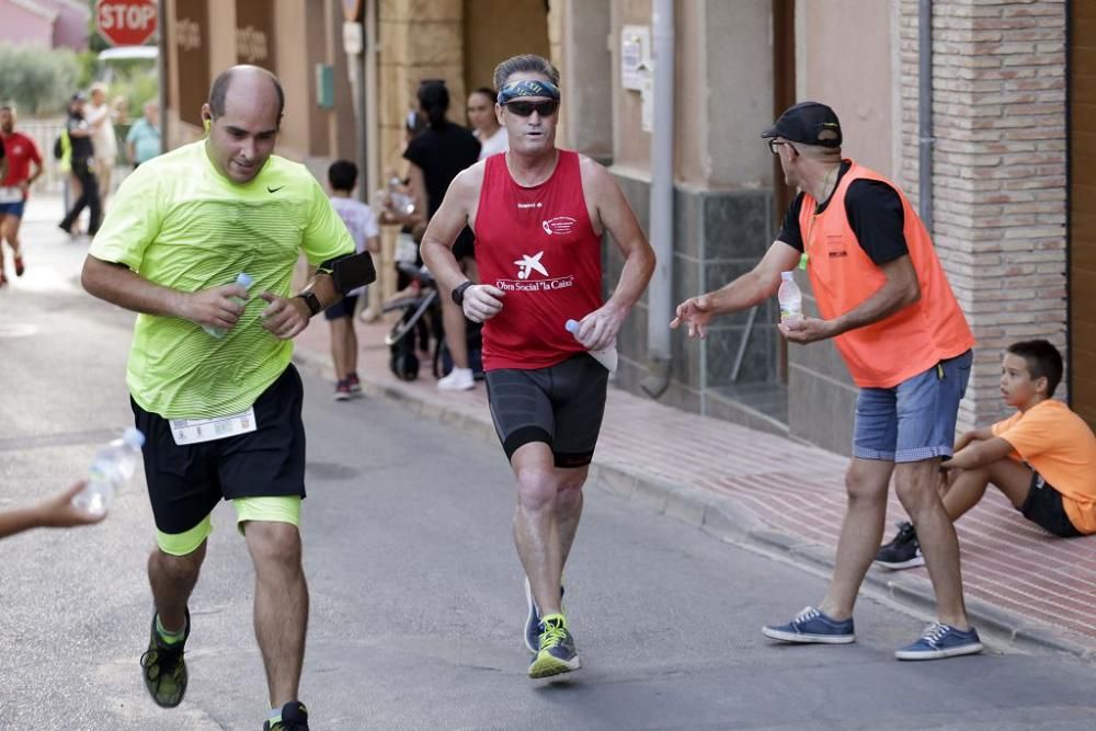
M317 355L297 346L293 362L309 373L333 377L330 355ZM498 439L489 420L460 409L419 398L391 384L362 376L362 389L370 397L380 397L409 408L412 413L454 425L466 434L475 434L492 444ZM834 568L835 549L802 541L773 529L753 513L745 511L732 498L711 494L699 488L678 484L655 475L627 466L598 461L594 458L587 483L610 494L644 505L660 515L690 525L709 536L742 548L769 556L783 557L829 574ZM936 596L932 584L920 576L872 567L864 580L865 586L918 614L934 614ZM1001 609L987 602L967 598L967 614L972 624L1016 648L1038 648L1096 663L1096 642L1068 629L1042 625Z

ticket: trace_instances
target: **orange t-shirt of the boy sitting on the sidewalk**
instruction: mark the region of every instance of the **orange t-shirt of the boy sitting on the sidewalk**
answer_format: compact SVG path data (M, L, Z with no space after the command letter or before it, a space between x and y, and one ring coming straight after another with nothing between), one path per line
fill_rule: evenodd
M992 426L1047 482L1062 493L1062 506L1081 533L1096 533L1096 436L1061 401L1047 399Z

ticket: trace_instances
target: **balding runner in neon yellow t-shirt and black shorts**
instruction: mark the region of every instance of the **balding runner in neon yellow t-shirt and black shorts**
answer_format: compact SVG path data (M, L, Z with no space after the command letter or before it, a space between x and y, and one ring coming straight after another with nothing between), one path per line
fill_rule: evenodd
M231 499L259 578L255 633L272 729L307 728L297 698L308 617L297 529L305 438L290 340L341 298L322 266L297 296L290 279L301 251L316 266L354 252L319 183L272 155L283 107L270 72L221 73L202 108L208 137L126 179L83 270L88 292L140 313L127 381L147 438L158 544L145 684L160 706L182 701L186 603L209 514ZM253 277L250 290L233 284L240 273Z

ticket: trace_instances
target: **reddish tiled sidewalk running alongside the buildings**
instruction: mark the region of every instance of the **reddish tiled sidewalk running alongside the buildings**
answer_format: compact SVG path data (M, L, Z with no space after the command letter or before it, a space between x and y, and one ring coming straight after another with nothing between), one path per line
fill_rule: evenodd
M403 401L422 415L496 441L482 384L471 391L438 391L429 368L418 380L398 380L383 344L387 325L356 325L367 395ZM297 338L295 359L332 377L322 318ZM719 538L829 569L845 510L846 464L822 449L610 388L591 478ZM887 517L884 540L893 537L892 523L905 517L893 490ZM957 532L968 609L978 627L1096 659L1096 538L1053 539L993 488ZM924 568L874 567L867 581L899 601L934 606ZM819 598L804 596L803 603ZM798 609L788 607L788 616Z

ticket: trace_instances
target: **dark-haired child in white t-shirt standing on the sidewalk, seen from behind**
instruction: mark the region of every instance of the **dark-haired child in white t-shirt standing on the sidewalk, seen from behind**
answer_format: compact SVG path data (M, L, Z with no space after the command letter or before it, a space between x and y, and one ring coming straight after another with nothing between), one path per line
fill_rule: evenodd
M379 230L369 206L351 197L357 184L357 165L350 160L336 160L328 168L331 205L354 238L357 252L380 251ZM346 293L342 301L324 310L331 324L331 359L335 367L335 400L345 401L361 392L357 377L357 334L354 332L354 308L365 287Z

